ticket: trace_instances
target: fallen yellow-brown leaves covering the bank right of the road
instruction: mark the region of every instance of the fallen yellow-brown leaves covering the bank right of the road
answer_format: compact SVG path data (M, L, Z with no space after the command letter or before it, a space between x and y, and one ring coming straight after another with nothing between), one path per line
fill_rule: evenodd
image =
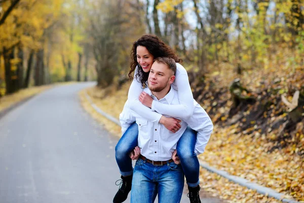
M257 101L254 105L239 109L239 116L229 115L233 106L229 85L240 76L223 72L207 76L204 83L194 81L197 86L192 83L194 96L214 122L214 132L206 151L199 159L218 170L270 187L285 194L285 198L304 202L304 153L301 153L304 152L303 125L301 122L296 123L296 128L293 131L285 130L280 139L277 134L282 125L277 129L270 128L275 122L288 119L288 108L282 103L281 94L291 100L294 91L304 87L303 72L288 73L284 69L244 72L241 77L242 85L250 89ZM113 85L105 89L93 87L86 91L101 110L118 119L127 100L129 86L130 83L126 83L120 90ZM197 88L200 88L200 92ZM273 102L257 120L251 120L250 116L257 112L262 98ZM105 127L121 136L119 127L113 130L112 125L107 125ZM200 180L204 190L229 202L280 202L203 168Z

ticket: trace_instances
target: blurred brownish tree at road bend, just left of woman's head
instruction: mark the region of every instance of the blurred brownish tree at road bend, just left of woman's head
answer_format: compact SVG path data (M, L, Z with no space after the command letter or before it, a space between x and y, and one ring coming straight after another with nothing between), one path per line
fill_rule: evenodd
M144 30L143 15L134 7L136 3L104 0L94 2L88 12L87 29L92 39L99 86L110 85L121 70L129 67L132 42Z

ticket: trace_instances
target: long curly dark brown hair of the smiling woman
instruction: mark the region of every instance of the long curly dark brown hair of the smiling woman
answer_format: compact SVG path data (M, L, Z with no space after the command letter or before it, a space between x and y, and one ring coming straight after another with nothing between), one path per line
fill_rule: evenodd
M146 82L148 80L149 73L145 73L142 70L142 67L137 62L137 56L136 56L136 48L138 46L145 47L148 52L153 55L154 58L157 57L169 57L173 58L175 62L182 62L182 59L179 58L173 51L171 47L166 45L162 40L160 40L155 35L143 35L141 36L137 41L133 43L132 51L131 51L131 70L129 72L129 78L130 80L133 79L133 72L136 69L136 66L139 67L138 73L135 75L135 78L138 82L140 82L143 87L146 87Z

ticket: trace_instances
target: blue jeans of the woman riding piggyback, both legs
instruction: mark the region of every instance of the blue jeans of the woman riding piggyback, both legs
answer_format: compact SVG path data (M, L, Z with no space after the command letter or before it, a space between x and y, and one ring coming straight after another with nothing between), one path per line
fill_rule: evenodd
M137 137L138 126L134 122L115 147L116 162L123 176L130 176L133 173L132 160L129 157L129 153L138 145ZM194 152L196 139L197 132L187 127L176 146L187 184L190 187L195 187L200 183L200 163Z

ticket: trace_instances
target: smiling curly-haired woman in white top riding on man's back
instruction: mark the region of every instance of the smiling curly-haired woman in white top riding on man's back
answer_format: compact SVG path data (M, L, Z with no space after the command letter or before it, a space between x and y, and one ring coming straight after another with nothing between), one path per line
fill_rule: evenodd
M132 62L129 77L134 78L128 93L128 101L130 109L139 114L143 118L163 124L168 130L176 132L179 128L180 120L167 118L168 115L175 118L187 119L193 115L194 101L191 87L189 85L187 72L184 67L179 64L181 59L175 55L174 51L162 42L157 36L143 35L133 43ZM173 58L177 65L176 78L173 88L178 90L178 98L180 105L166 105L154 101L149 95L142 92L146 87L148 74L157 57ZM113 199L113 202L123 202L129 191L132 182L132 160L129 153L137 146L138 126L133 123L123 134L122 138L116 146L116 160L122 174L122 186ZM197 132L191 128L187 128L177 143L177 153L189 186L189 192L192 188L198 195L199 187L199 161L195 154L195 141ZM179 153L182 152L182 153ZM139 148L135 148L135 154L139 153ZM186 156L184 156L186 155ZM191 160L191 161L189 161ZM191 164L188 164L188 163ZM189 196L191 196L190 194ZM199 197L195 202L201 202Z

